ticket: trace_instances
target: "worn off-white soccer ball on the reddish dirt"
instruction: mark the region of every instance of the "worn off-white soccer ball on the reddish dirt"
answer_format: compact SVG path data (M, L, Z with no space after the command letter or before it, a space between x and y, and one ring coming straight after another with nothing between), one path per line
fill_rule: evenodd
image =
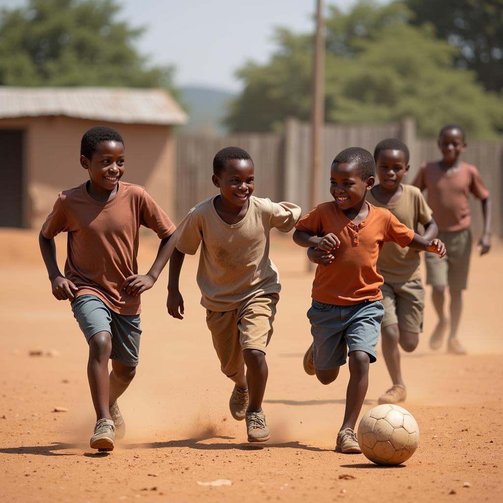
M419 427L410 412L391 403L367 411L358 426L362 453L378 465L399 465L419 443Z

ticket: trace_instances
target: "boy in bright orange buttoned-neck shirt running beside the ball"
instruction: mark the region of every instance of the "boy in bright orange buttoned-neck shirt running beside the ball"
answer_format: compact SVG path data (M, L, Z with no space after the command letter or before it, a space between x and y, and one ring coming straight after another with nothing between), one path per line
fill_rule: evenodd
M384 307L377 269L385 241L402 247L445 255L439 239L427 241L388 210L366 201L375 182L372 154L359 147L343 150L330 167L330 194L323 203L301 218L294 241L314 248L309 255L318 264L307 316L313 344L304 357L305 369L322 384L333 382L349 353L350 380L343 424L336 451L361 452L355 425L368 387L369 364L376 361Z

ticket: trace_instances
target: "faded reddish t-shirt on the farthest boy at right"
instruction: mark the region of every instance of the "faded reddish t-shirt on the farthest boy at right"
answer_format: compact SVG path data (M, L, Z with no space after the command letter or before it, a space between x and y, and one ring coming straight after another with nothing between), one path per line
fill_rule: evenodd
M477 168L467 162L461 162L457 170L445 170L439 162L427 162L412 185L422 191L428 189L428 205L443 231L463 230L470 225L470 192L481 200L489 197Z

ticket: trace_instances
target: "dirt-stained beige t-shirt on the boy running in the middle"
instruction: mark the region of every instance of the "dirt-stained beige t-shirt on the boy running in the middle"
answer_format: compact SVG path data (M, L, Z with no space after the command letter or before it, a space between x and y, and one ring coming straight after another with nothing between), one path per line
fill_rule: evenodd
M177 248L195 255L201 244L201 304L211 311L232 311L250 297L281 290L278 270L269 258L269 232L273 227L293 229L300 208L251 196L244 218L230 225L218 215L215 197L199 203L182 220Z

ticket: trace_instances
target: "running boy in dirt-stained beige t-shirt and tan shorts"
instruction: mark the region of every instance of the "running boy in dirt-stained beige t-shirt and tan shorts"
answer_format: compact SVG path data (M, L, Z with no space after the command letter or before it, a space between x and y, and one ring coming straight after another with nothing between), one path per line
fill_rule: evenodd
M252 196L254 180L246 151L226 147L215 155L212 181L220 194L199 203L180 223L167 309L183 318L180 270L185 254L194 255L201 245L197 283L222 372L235 383L230 412L235 420L246 420L248 442L264 442L270 437L262 411L265 354L281 289L269 258L269 232L291 230L300 208Z

